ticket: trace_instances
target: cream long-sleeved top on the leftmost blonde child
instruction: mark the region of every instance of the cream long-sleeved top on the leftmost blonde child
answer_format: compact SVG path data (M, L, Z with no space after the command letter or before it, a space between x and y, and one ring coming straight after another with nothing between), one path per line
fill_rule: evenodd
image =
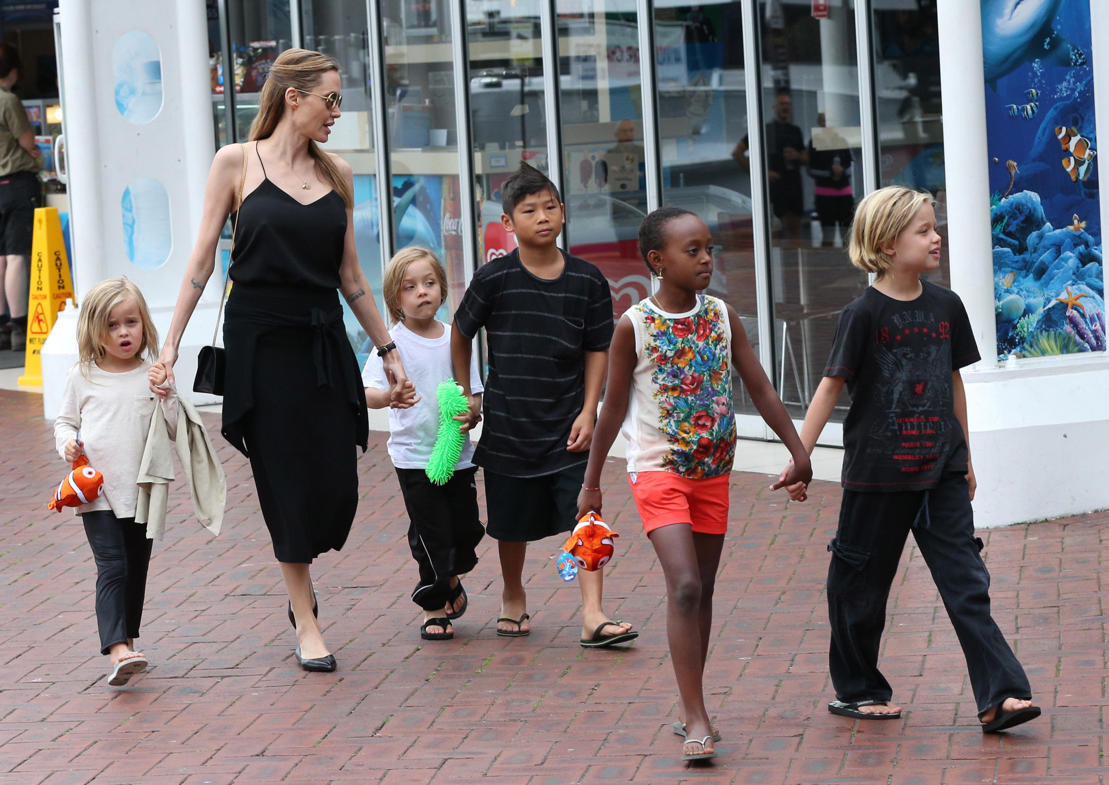
M65 458L65 445L81 430L81 441L89 466L104 477L100 496L75 508L77 513L111 510L116 518L134 518L139 500L139 466L142 463L150 418L157 401L150 391L146 371L150 363L134 370L110 374L93 363L90 378L74 366L65 379L62 406L54 420L54 445ZM177 394L162 401L162 412L170 438L176 438ZM61 480L59 471L58 479Z

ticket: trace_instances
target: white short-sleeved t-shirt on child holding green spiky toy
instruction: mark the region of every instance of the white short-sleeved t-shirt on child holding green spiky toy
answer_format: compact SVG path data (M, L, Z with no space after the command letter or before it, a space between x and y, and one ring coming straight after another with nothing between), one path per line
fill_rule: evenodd
M442 335L438 338L423 338L405 327L404 323L389 330L389 337L400 351L405 373L416 385L416 394L420 397L419 402L411 408L389 409L389 458L398 469L426 469L431 458L435 437L439 432L439 400L436 391L441 383L455 377L450 365L450 325L442 325ZM385 365L376 353L370 354L366 360L362 380L366 387L389 389ZM474 355L470 355L470 391L474 395L485 391ZM474 445L467 434L462 455L455 468L470 468L474 466L472 457Z

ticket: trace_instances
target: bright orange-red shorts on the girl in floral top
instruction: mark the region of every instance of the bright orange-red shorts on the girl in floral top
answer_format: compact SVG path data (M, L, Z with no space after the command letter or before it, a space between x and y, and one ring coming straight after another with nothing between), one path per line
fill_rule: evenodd
M672 523L690 523L702 534L725 534L729 475L693 480L670 471L640 471L628 475L628 485L648 533Z

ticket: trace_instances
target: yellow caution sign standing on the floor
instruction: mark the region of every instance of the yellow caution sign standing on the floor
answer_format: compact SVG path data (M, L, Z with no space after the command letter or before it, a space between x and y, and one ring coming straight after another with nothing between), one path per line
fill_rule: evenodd
M31 293L28 299L27 359L20 386L42 385L42 346L58 320L58 312L67 299L73 299L73 281L69 274L62 222L57 207L34 211L34 234L31 238Z

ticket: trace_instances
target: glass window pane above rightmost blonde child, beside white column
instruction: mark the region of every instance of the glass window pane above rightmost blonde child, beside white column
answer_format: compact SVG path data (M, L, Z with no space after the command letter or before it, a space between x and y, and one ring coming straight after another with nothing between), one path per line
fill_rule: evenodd
M907 185L936 197L944 244L932 279L950 286L936 2L876 0L873 8L882 185Z

